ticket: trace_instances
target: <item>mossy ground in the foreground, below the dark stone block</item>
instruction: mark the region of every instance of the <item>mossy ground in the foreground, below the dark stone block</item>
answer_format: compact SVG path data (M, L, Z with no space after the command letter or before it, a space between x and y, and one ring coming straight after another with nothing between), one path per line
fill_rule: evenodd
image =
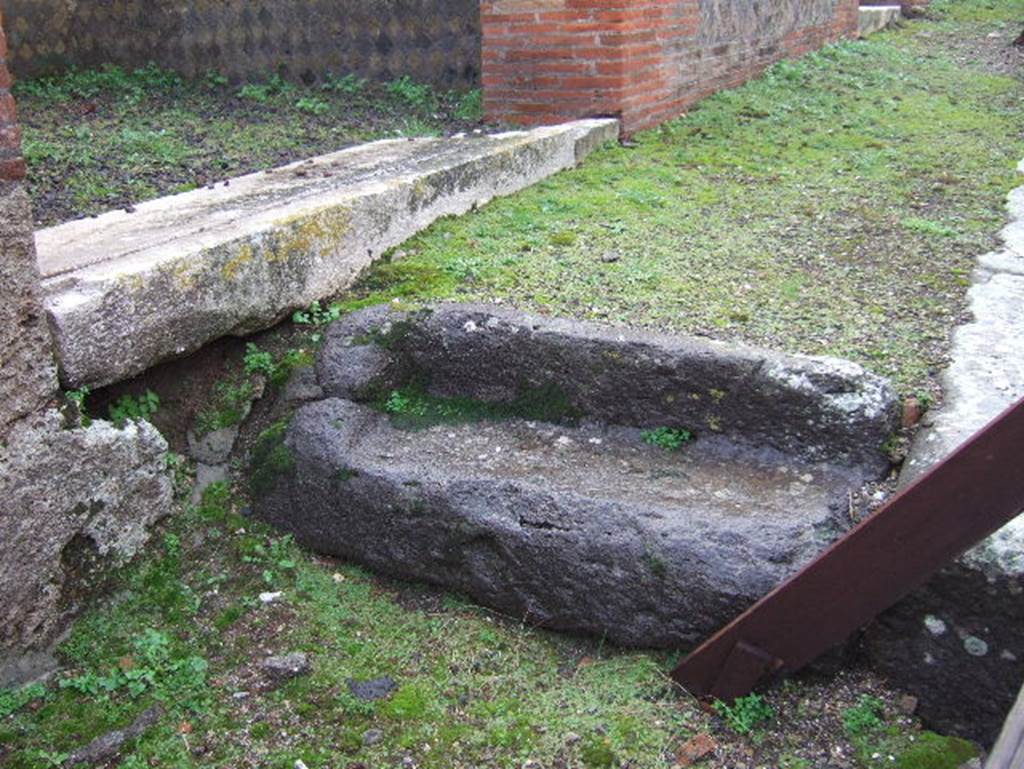
M801 758L809 744L859 752L864 767L886 765L869 758L879 750L886 761L923 750L915 724L869 678L787 684L739 734L674 689L675 655L531 630L459 596L312 557L240 515L244 505L212 486L75 625L54 680L0 690L0 765L58 766L154 704L162 718L118 766L643 769L671 766L698 732L715 735L726 761L758 750L783 767L812 766ZM283 595L263 604L264 591ZM296 650L311 654L312 672L261 690L259 660ZM348 690L350 679L381 676L398 686L385 700ZM863 691L879 695L878 720L844 732L844 706ZM798 726L808 719L814 732ZM823 747L814 745L822 726L831 731ZM368 746L370 729L383 739ZM945 769L934 754L921 766ZM899 766L916 769L908 761Z

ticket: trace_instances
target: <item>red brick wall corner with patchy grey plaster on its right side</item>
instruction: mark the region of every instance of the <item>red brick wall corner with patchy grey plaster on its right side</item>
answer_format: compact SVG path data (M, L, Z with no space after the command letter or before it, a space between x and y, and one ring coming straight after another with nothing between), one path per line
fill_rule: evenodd
M700 0L482 0L484 109L522 125L613 115L630 133L856 33L857 0L837 0L827 20L807 25L794 0L773 2L793 7L791 31L711 39Z

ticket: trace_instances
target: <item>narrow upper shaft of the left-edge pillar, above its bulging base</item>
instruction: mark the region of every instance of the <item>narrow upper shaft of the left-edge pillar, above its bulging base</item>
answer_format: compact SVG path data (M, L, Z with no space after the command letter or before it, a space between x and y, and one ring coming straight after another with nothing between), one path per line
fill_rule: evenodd
M39 302L32 208L22 183L22 135L6 56L0 15L0 439L57 390L52 343Z

